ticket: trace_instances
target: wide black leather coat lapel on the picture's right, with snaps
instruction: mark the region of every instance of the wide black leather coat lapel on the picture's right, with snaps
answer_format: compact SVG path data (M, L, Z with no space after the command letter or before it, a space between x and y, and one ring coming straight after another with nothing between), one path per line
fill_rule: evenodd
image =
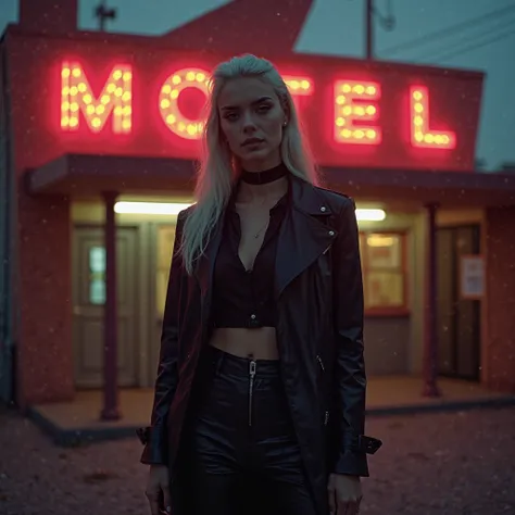
M327 223L330 215L329 205L311 184L291 178L291 204L282 221L277 246L277 298L331 246L337 231Z

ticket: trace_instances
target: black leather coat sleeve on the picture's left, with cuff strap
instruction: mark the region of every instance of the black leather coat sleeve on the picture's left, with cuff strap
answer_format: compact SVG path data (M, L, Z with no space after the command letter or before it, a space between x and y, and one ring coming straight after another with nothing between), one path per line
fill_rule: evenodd
M169 271L166 302L161 332L161 348L150 427L137 431L145 449L141 463L166 465L166 419L178 382L178 310L180 284L185 269L179 246L184 227L184 212L177 217L174 250Z

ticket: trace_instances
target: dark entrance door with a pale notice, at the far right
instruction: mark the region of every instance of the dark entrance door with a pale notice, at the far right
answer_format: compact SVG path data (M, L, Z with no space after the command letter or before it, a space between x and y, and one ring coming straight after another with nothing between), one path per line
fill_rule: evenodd
M479 225L441 227L437 246L439 374L479 380L480 303L460 294L461 256L479 254Z

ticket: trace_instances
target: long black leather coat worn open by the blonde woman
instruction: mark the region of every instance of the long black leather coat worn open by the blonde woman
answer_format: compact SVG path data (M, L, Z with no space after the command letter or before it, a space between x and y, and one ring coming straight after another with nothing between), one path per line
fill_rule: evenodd
M318 513L327 515L328 475L368 476L366 454L380 447L364 436L359 233L348 197L296 177L290 188L275 269L278 350L309 483ZM188 276L177 252L188 211L177 222L151 427L140 432L146 444L141 462L167 464L173 485L191 384L209 337L213 265L222 237L221 222Z

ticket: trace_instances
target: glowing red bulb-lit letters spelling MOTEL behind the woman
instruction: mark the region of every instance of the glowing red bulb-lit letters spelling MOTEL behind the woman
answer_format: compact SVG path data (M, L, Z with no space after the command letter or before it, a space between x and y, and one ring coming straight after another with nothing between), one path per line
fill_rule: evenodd
M80 117L91 133L102 131L110 116L114 134L130 134L133 129L133 74L129 65L115 65L99 96L91 90L83 67L65 62L61 68L61 128L77 130ZM200 67L181 68L171 74L162 84L159 112L165 127L185 140L197 140L203 126L200 115L192 116L180 108L180 97L187 89L209 95L209 72ZM315 81L306 76L285 75L285 81L298 102L299 98L313 95ZM381 84L339 78L334 83L332 138L338 145L379 146L382 128L379 125ZM451 130L430 127L430 93L425 86L411 86L410 141L414 148L436 150L454 149L456 135ZM298 106L301 109L300 104Z

